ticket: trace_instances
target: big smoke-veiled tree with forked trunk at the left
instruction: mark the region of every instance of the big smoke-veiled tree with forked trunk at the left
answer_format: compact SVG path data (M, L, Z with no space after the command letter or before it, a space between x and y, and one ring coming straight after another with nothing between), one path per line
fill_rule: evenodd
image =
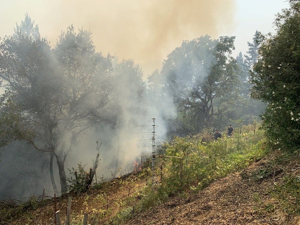
M80 136L106 121L111 57L95 52L91 33L73 26L62 32L54 51L46 39L18 32L0 44L0 77L22 103L22 119L34 132L24 140L56 158L61 192L67 191L64 162ZM55 190L57 191L57 190Z

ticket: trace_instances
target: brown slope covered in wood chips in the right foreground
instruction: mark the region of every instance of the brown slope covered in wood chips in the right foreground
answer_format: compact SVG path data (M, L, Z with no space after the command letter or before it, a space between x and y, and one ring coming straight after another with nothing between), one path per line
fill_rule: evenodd
M279 209L271 214L261 211L265 207L262 201L274 201L268 195L269 188L274 182L283 182L283 174L293 168L291 164L284 168L275 166L272 167L274 173L259 179L258 172L270 162L268 158L253 163L241 172L217 180L188 199L170 199L150 212L135 216L127 224L300 224L298 217L286 217Z

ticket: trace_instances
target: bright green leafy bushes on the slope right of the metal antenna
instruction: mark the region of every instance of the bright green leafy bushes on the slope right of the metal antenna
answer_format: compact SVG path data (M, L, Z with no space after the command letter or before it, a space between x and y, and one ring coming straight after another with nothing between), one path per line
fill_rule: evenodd
M164 158L164 176L160 185L146 187L140 200L140 209L152 208L168 197L198 191L211 181L226 176L266 154L263 132L243 133L237 137L221 138L201 145L203 135L175 137L163 143L167 156L183 159L182 180L180 158ZM203 143L203 142L202 142ZM150 186L150 185L149 185Z

